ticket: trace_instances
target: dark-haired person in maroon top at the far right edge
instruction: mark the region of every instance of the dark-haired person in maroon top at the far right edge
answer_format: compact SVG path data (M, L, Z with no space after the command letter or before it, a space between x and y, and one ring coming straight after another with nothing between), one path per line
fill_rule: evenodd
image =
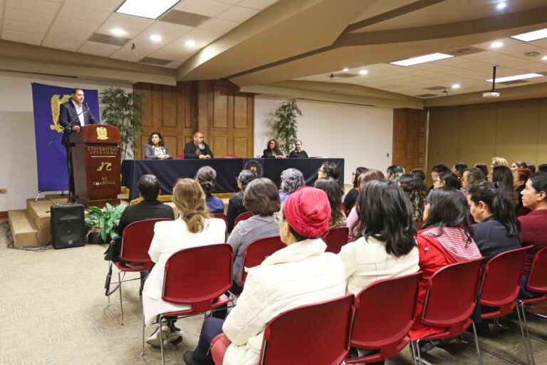
M522 205L531 209L532 212L521 215L519 222L521 222L522 245L532 245L532 248L526 254L519 297L533 298L538 297L538 294L528 292L525 285L533 256L543 247L547 247L547 173L533 173L525 186L521 192Z

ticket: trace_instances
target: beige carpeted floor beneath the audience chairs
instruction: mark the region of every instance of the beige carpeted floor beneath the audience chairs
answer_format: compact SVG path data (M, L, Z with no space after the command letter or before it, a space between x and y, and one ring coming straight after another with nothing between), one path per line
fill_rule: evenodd
M124 285L125 324L106 309L108 264L105 247L87 245L32 252L7 248L6 224L0 225L0 364L141 364L142 304L138 280ZM138 274L132 274L137 277ZM116 293L112 309L119 314ZM203 317L177 322L184 341L167 346L166 364L184 364L182 353L197 344ZM547 339L547 320L530 316L533 333ZM516 317L504 319L518 329ZM146 330L149 334L151 329ZM467 336L471 339L471 336ZM496 330L479 337L484 364L504 364L496 351L526 362L522 341L513 331ZM547 344L532 341L536 364L547 365ZM146 345L150 364L161 364L159 349ZM476 364L474 346L452 341L424 355L430 364ZM405 349L387 364L413 364ZM509 363L506 363L509 364Z

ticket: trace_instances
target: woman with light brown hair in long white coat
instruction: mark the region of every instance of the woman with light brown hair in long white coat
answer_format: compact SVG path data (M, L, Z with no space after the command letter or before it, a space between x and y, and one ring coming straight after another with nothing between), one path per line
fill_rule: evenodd
M145 324L150 326L157 316L165 312L189 309L187 304L172 304L162 300L165 262L179 250L201 245L224 242L226 223L211 218L205 205L205 193L192 179L181 179L173 187L173 202L179 211L179 218L170 222L157 222L154 238L148 255L156 264L148 276L142 291L142 310ZM191 279L191 278L189 278ZM164 324L162 338L167 343L182 341L182 333L174 326L176 319ZM160 346L160 331L154 331L147 339L148 344Z

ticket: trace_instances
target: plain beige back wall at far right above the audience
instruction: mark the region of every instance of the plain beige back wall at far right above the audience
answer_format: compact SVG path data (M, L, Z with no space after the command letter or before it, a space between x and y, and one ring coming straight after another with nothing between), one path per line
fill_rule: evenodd
M427 171L443 163L547 163L547 98L431 108Z

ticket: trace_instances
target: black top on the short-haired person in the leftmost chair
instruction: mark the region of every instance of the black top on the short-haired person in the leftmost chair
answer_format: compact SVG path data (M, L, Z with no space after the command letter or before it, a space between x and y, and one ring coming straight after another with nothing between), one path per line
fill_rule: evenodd
M142 200L142 202L135 205L128 205L123 210L120 217L120 223L118 223L118 235L120 237L123 234L123 230L127 225L137 220L151 220L154 218L167 218L174 220L173 208L167 204L163 204L159 200ZM120 261L120 249L122 245L121 238L116 240L114 245L110 245L105 252L105 260L111 260L114 262Z

